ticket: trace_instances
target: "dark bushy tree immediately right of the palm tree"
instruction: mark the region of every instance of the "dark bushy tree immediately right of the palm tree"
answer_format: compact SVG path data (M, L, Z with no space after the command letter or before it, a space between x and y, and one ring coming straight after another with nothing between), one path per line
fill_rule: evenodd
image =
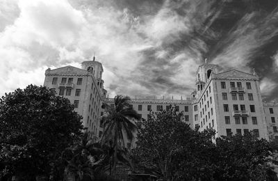
M213 134L190 129L173 108L152 113L138 129L133 162L163 180L210 180Z

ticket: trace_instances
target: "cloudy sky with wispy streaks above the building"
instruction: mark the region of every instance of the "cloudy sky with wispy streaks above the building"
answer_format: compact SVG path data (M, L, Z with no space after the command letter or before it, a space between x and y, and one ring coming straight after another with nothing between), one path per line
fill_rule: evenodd
M0 95L93 54L110 97L190 97L207 58L278 101L278 1L0 0Z

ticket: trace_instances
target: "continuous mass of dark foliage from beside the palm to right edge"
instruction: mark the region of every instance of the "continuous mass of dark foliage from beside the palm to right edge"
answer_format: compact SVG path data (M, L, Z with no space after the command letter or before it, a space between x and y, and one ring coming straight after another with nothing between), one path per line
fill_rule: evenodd
M152 113L138 129L133 163L140 173L163 180L267 180L272 175L271 148L252 134L213 139L183 123L174 109Z

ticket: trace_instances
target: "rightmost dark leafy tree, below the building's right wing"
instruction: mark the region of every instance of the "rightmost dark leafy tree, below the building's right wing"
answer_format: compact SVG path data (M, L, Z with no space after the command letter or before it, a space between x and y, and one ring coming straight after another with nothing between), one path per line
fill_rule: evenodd
M216 139L217 180L267 180L273 175L272 148L265 139L252 133Z

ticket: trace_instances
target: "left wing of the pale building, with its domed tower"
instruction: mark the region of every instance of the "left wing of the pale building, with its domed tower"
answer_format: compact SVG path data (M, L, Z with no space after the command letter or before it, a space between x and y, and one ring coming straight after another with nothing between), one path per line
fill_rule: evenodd
M102 102L106 98L101 63L84 61L82 68L66 66L45 71L44 86L56 95L66 97L74 104L74 111L83 116L83 126L95 136L101 136L102 125L99 117L103 113Z

